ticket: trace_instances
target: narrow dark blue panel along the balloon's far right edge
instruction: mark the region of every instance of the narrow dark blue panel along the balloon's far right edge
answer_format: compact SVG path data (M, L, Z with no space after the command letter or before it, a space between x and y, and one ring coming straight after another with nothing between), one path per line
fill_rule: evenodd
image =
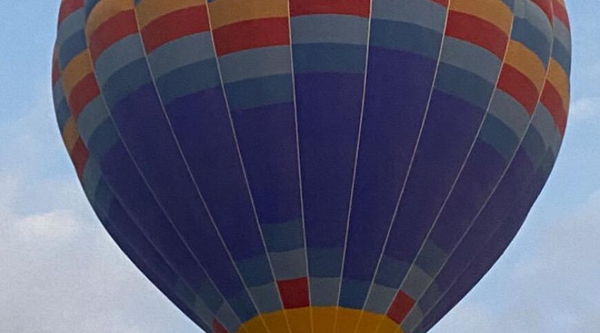
M437 277L440 289L450 290L426 316L417 332L424 332L454 307L512 241L548 179L551 169L548 165L554 161L552 152L540 155L543 156L542 163L534 171L530 157L519 149L492 200ZM426 304L426 310L432 305Z

